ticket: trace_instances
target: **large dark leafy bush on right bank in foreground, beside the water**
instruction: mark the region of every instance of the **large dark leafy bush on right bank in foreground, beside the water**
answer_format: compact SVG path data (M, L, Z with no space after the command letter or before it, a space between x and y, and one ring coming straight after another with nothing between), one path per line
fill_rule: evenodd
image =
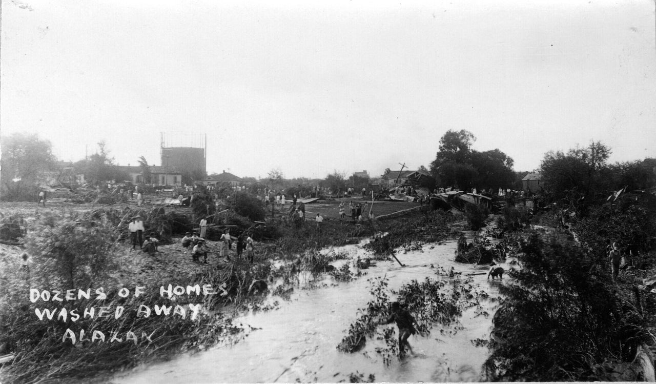
M564 234L531 232L494 318L493 381L588 381L596 366L645 340L642 318L623 316L610 276ZM631 320L626 320L630 318Z

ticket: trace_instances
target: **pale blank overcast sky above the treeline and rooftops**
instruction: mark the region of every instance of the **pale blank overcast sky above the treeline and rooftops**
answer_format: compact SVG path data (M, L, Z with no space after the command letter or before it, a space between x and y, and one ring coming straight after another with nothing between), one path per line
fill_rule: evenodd
M653 0L1 1L1 134L61 160L159 165L184 131L210 173L380 175L447 129L518 171L590 140L656 158Z

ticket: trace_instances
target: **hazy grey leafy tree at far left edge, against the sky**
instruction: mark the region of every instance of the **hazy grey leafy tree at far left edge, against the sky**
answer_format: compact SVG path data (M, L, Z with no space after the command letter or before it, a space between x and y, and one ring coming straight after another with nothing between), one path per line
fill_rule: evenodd
M14 133L2 138L0 194L3 200L34 200L39 184L47 180L47 171L56 158L52 145L38 135Z

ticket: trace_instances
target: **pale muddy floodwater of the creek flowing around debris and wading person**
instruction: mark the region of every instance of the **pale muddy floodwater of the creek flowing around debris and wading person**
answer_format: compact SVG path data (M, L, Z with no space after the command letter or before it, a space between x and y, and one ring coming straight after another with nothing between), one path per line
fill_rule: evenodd
M133 372L113 379L119 383L239 383L239 382L335 382L350 373L370 374L375 381L485 381L482 364L487 347L476 347L475 339L488 339L492 316L498 301L482 301L482 308L464 310L457 326L435 326L430 335L413 335L409 342L415 356L393 359L384 366L375 352L384 341L367 339L366 347L352 354L340 352L337 345L356 320L358 309L372 299L367 279L386 276L390 289L399 289L413 279L436 276L435 267L468 274L487 272L488 267L455 263L455 241L424 244L422 251L397 253L406 265L396 261L377 261L375 267L363 270L364 276L353 282L338 283L331 277L319 282L319 288L297 288L289 301L279 301L277 309L244 314L241 323L247 335L237 344L216 347L171 361L140 366ZM359 245L336 248L350 257L367 257ZM509 262L510 259L506 260ZM349 263L337 261L335 265ZM501 264L506 270L509 265ZM308 276L309 278L309 276ZM472 276L474 286L499 297L499 280L487 280L485 274ZM318 283L318 282L315 282ZM321 284L326 283L326 284ZM392 299L396 299L394 295ZM391 326L391 325L390 325ZM385 327L385 326L381 326Z

